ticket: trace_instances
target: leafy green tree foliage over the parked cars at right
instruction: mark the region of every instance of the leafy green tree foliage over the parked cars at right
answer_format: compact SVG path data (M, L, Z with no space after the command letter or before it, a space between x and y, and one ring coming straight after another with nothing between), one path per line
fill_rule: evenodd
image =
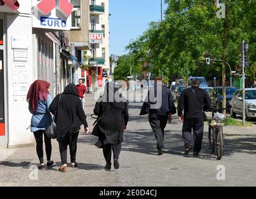
M154 75L187 78L202 75L208 79L221 78L222 63L205 64L205 58L223 58L232 70L239 70L239 45L243 39L250 45L252 67L247 70L253 78L256 63L256 0L223 0L227 9L225 19L216 17L213 0L165 1L168 8L162 22L151 22L135 42L127 45L131 50L132 64L152 64ZM225 24L226 23L226 24ZM227 35L224 35L225 25ZM117 67L118 70L118 67ZM136 72L139 69L136 67ZM229 67L227 67L229 76Z

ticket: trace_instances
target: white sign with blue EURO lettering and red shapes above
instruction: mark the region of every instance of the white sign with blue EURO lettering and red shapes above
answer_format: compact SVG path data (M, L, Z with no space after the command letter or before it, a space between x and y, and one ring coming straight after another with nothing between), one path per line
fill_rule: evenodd
M68 0L42 0L33 7L33 27L70 30L73 7Z

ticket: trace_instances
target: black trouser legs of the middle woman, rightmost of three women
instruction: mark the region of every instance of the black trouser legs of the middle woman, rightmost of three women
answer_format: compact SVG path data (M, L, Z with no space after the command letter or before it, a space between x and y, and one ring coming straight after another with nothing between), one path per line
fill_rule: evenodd
M112 150L113 150L113 154L114 154L114 159L119 159L119 155L121 153L121 148L122 148L121 144L115 144L115 145L106 144L103 146L103 155L105 157L107 165L111 165Z

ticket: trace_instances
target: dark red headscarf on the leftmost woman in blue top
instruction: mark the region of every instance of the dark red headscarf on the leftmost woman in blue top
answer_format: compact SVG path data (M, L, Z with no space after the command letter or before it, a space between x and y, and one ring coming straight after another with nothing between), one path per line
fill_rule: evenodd
M36 80L29 88L27 93L27 99L29 99L29 107L32 109L32 112L36 112L38 101L46 101L48 95L48 88L50 83L47 81Z

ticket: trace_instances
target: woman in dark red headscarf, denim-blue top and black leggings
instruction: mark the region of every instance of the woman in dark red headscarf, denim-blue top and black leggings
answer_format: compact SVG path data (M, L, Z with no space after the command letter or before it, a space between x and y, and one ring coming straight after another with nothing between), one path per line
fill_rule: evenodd
M38 169L44 169L44 152L42 149L42 137L46 145L47 166L54 164L51 161L52 145L51 138L46 136L46 127L51 124L52 116L49 111L51 104L50 83L47 81L36 80L29 88L27 93L27 102L29 103L29 111L33 114L31 119L31 132L34 133L36 139L36 152L40 161Z

